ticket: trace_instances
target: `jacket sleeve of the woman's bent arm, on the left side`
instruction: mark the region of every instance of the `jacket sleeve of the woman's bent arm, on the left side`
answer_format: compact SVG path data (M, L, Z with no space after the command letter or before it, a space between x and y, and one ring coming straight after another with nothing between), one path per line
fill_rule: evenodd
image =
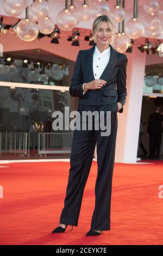
M69 92L73 97L83 96L83 70L81 51L78 52L76 63L74 65Z

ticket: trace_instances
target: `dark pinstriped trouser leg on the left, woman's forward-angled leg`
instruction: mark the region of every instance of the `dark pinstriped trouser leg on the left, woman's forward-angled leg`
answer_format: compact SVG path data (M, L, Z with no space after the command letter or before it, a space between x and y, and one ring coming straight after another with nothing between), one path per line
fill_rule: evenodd
M90 109L84 106L84 110ZM89 176L96 146L96 133L92 130L74 130L70 156L70 171L61 224L78 225L84 187Z

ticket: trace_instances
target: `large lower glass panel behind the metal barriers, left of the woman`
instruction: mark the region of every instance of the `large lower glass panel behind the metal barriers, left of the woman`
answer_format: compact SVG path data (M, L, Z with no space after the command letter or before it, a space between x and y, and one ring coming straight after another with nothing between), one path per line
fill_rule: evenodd
M58 90L0 87L0 157L8 159L69 158L72 131L54 131L52 113L77 99ZM71 100L70 100L71 99Z

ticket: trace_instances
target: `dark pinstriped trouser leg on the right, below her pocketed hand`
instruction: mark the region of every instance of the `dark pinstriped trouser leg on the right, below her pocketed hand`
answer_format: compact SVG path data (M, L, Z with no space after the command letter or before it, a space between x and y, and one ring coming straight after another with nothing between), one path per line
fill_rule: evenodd
M98 174L95 186L96 200L91 229L109 230L112 174L114 170L118 120L115 105L103 105L100 109L101 111L110 111L111 109L111 133L109 136L101 136L101 130L99 129L97 131Z

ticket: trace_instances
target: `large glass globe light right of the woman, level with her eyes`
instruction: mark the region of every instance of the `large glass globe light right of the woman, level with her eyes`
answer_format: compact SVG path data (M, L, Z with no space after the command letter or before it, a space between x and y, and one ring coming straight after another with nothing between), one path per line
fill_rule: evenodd
M125 33L128 38L137 39L145 33L145 27L138 18L131 18L126 23Z

